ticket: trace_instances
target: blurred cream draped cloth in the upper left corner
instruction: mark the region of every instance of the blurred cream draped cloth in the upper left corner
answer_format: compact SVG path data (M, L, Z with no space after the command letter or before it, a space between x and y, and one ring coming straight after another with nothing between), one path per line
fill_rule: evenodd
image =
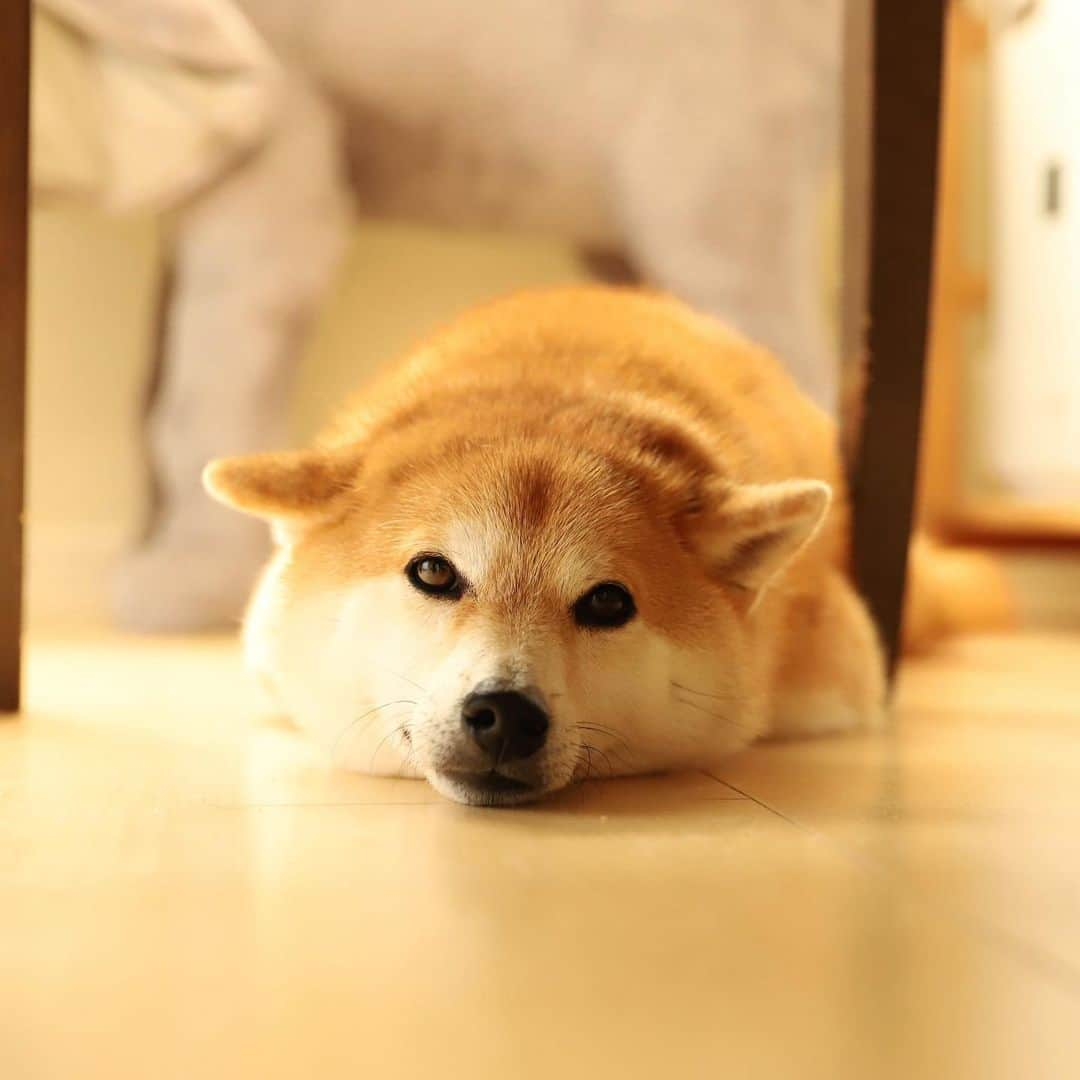
M230 0L36 0L32 180L166 210L266 137L279 71Z

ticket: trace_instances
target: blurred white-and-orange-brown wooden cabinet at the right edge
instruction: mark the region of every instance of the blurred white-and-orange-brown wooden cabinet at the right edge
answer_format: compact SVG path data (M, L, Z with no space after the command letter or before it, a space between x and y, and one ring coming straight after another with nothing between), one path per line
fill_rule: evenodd
M919 477L946 539L1080 539L1080 8L955 0Z

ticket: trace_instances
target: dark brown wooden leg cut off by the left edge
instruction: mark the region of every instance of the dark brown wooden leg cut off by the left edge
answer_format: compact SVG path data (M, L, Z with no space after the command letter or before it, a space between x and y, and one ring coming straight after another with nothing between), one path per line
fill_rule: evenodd
M0 712L19 706L30 0L0 4Z

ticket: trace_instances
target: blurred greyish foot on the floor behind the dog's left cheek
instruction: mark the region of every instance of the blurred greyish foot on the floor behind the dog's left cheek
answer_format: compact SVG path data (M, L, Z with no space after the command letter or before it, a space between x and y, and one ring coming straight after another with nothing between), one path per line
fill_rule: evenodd
M152 538L116 568L113 621L149 634L235 626L268 551L267 538L251 534L183 543Z

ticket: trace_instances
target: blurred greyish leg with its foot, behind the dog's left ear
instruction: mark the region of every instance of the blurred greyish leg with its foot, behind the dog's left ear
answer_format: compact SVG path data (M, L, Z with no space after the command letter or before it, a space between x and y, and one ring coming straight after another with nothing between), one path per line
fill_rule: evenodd
M124 626L194 630L243 607L266 528L211 502L200 473L287 443L295 361L348 237L338 136L329 106L291 79L267 145L180 215L148 417L159 499L116 581Z

